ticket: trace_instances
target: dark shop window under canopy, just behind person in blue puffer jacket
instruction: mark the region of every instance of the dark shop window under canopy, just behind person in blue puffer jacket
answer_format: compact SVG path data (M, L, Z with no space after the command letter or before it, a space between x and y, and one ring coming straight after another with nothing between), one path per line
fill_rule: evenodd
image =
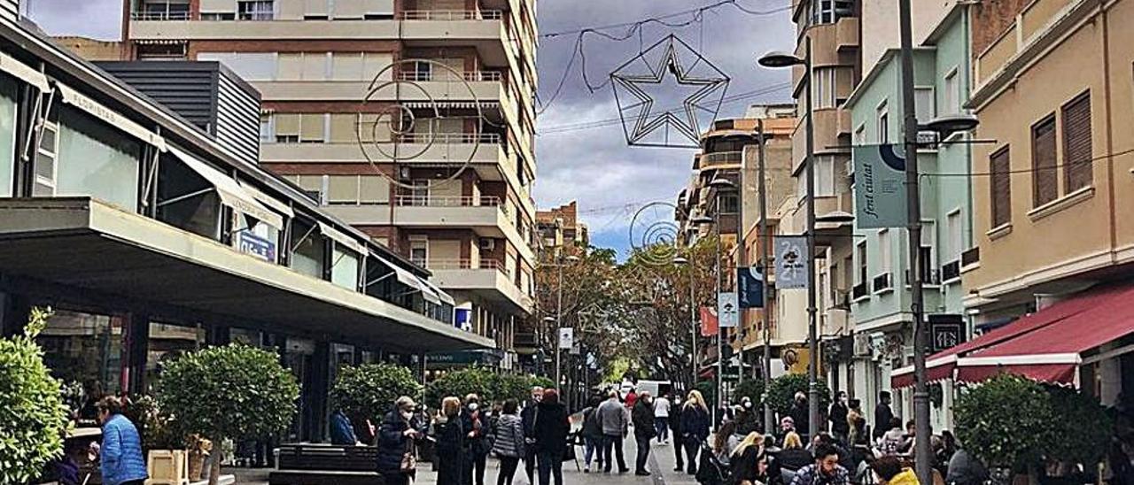
M83 390L81 425L96 425L94 402L122 391L122 329L118 316L57 309L35 338L51 375Z

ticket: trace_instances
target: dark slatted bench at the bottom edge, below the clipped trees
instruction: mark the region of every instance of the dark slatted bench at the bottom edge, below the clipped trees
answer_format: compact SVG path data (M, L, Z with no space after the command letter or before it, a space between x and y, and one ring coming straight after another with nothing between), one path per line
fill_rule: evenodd
M382 485L378 448L321 443L280 445L270 485Z

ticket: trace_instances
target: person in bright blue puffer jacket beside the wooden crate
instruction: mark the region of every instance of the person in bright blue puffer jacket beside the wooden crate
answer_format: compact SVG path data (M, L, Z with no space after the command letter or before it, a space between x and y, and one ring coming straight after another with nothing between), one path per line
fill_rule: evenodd
M95 405L102 423L99 471L105 485L143 485L150 475L142 457L142 437L134 423L122 416L122 401L107 395Z

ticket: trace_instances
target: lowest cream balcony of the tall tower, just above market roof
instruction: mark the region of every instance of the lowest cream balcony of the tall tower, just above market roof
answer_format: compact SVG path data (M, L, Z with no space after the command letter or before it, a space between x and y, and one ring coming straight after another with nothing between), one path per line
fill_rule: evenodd
M518 312L532 312L534 300L516 286L499 261L431 259L426 267L433 272L432 281L441 289L469 291Z

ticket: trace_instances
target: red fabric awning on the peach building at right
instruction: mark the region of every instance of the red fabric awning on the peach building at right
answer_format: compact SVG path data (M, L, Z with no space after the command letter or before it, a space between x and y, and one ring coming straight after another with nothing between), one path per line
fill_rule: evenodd
M1073 384L1084 351L1134 333L1134 284L1094 289L931 356L928 381L954 376L980 382L1008 372ZM913 385L913 368L894 373L895 388Z

